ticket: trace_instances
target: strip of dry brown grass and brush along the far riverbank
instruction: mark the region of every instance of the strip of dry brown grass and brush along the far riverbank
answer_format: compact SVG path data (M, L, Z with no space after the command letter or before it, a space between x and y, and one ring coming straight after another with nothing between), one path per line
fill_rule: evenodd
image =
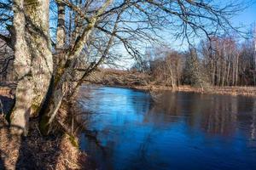
M195 88L189 85L181 85L176 88L166 86L157 82L150 82L150 77L147 74L137 71L118 71L118 70L101 70L91 75L86 82L103 84L108 86L121 86L127 88L135 88L147 91L172 90L181 92L195 92L202 94L229 94L229 95L244 95L256 97L255 87L210 87L204 91L201 88Z

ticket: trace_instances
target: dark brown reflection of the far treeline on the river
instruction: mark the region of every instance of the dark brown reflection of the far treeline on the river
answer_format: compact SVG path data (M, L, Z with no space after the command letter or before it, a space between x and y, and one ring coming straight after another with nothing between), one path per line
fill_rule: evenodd
M250 129L247 135L255 139L256 99L193 93L165 93L160 98L145 115L146 122L147 115L160 123L168 123L163 120L170 116L172 121L185 117L189 127L200 126L205 133L229 136L241 127ZM164 114L158 116L155 113Z

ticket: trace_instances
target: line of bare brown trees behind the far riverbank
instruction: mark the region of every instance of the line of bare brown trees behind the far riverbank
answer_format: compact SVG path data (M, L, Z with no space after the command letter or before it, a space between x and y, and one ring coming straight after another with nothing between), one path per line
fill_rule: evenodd
M177 87L254 86L256 59L253 38L239 42L234 37L212 37L196 48L178 52L152 47L132 69L147 72L150 81Z

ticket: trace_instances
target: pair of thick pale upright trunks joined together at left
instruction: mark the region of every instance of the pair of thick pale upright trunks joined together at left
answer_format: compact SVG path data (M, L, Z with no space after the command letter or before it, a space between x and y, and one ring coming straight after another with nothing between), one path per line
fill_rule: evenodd
M18 85L10 121L26 134L28 118L38 116L52 77L49 0L15 0L14 26Z

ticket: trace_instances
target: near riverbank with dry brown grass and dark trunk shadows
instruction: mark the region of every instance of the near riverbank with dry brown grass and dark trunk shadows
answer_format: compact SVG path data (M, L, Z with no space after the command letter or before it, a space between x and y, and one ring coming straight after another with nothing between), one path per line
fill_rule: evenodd
M14 104L12 88L1 87L0 99L6 114ZM63 108L61 110L63 111ZM60 117L58 117L60 118ZM73 136L59 128L43 136L37 118L30 120L26 138L12 133L0 114L0 169L94 169L89 156L79 150L79 133Z

